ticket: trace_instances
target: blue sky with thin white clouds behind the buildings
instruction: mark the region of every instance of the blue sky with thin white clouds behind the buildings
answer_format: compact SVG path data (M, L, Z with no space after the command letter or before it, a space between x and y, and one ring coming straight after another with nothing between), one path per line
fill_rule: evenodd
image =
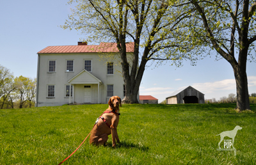
M0 1L0 64L15 76L36 78L37 52L50 45L76 45L83 38L77 31L63 30L70 6L63 0ZM90 44L90 43L88 43ZM148 63L149 64L149 63ZM236 94L236 82L230 64L225 59L202 59L196 66L184 61L183 67L171 63L145 70L140 95L152 95L159 102L173 91L193 86L205 98L228 97ZM248 62L248 90L256 93L256 63Z

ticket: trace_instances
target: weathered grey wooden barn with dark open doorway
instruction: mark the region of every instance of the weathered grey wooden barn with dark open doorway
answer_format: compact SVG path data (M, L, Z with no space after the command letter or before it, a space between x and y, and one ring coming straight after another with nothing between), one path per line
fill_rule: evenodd
M166 97L166 104L204 104L204 93L188 86Z

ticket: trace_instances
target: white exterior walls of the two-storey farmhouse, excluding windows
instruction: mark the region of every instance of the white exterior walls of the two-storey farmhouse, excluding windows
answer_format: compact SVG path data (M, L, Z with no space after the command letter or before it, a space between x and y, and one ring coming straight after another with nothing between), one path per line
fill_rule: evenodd
M74 60L74 71L67 72L67 59ZM100 103L108 103L107 84L113 84L114 95L124 98L124 79L122 68L117 65L120 58L116 55L111 59L114 63L114 74L107 75L107 60L102 60L97 53L77 54L39 54L38 56L38 96L37 106L60 106L69 103L69 97L65 97L65 85L68 80L79 74L84 69L84 59L92 59L92 72L103 84L100 85ZM49 73L49 61L56 60L56 72ZM83 88L85 85L92 86L92 103L98 103L98 84L95 78L83 72L70 82L73 83L74 98L71 101L83 104ZM55 97L47 98L47 84L55 84Z

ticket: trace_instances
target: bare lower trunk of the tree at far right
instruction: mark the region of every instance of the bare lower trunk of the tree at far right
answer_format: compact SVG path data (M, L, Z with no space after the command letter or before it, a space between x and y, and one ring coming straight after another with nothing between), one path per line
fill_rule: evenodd
M236 67L234 68L237 91L237 110L244 111L250 109L248 81L246 70Z

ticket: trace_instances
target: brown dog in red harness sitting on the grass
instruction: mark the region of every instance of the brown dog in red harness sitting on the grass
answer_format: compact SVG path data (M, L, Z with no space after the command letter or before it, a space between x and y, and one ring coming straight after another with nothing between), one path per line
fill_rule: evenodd
M113 96L109 98L108 104L109 108L97 119L92 129L90 144L104 145L108 141L108 135L112 134L113 147L115 148L116 142L120 142L116 127L119 122L119 105L122 107L121 98Z

